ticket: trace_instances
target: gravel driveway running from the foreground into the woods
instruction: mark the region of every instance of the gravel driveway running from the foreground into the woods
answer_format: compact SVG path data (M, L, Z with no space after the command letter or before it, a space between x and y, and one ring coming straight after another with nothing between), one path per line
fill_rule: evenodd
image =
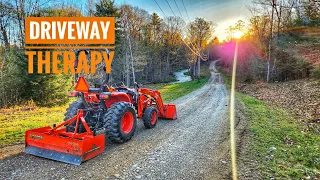
M214 73L212 73L214 74ZM142 121L133 139L109 143L104 153L80 166L20 153L0 161L0 179L226 179L228 95L213 78L173 102L176 121L154 129Z

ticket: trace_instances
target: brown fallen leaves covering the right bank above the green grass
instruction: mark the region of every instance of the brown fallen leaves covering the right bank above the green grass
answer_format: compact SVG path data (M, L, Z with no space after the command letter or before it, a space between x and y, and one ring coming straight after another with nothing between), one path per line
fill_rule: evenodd
M283 107L320 134L320 85L316 81L242 84L239 91L272 105Z

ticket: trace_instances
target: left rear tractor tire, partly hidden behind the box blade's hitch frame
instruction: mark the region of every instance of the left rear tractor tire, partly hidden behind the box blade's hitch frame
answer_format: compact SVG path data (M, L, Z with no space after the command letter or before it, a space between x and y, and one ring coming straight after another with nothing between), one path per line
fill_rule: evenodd
M77 115L78 113L78 109L84 109L85 106L83 105L83 103L81 102L81 99L78 99L74 102L72 102L69 107L67 108L67 112L64 114L64 121L74 117ZM66 131L67 132L74 132L75 129L75 123L73 123L70 126L66 126ZM85 132L85 128L83 127L82 123L79 124L79 129L78 129L78 133L82 133Z

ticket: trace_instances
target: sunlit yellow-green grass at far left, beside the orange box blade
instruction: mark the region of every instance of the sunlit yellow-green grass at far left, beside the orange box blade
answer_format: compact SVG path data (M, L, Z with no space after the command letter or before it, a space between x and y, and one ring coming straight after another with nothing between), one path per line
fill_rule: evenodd
M1 109L0 147L24 142L26 130L61 123L67 106Z

